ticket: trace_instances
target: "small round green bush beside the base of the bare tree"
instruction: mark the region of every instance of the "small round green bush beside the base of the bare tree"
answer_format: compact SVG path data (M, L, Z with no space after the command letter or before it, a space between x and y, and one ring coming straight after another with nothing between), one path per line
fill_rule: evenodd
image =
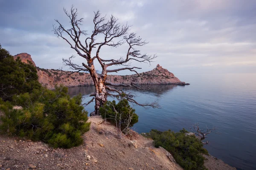
M135 113L135 110L131 108L126 99L120 100L117 104L114 100L112 102L106 102L99 111L101 116L113 125L120 124L121 130L127 126L129 117L131 117L129 127L132 127L139 120L139 116Z

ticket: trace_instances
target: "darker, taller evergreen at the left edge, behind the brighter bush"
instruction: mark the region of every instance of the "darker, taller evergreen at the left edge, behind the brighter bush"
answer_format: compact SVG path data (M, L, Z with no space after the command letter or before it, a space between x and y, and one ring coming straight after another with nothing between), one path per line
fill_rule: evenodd
M31 92L40 88L37 70L32 64L13 59L8 51L0 46L0 98L11 100L15 94Z

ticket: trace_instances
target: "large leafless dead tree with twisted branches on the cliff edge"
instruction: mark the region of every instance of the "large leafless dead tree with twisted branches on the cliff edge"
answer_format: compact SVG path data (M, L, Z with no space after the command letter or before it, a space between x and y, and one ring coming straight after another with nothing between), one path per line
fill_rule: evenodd
M134 83L117 84L106 80L108 73L122 70L133 71L138 74L136 69L141 68L131 67L132 61L150 63L155 59L157 57L155 54L153 56L141 54L140 50L136 49L136 47L143 46L148 42L142 40L135 33L128 33L130 26L127 24L121 26L118 23L118 19L113 17L113 15L107 20L106 16L102 17L99 11L94 12L94 29L92 34L89 35L87 31L81 30L83 18L78 18L76 8L71 6L70 13L66 9L64 9L64 13L70 20L71 28L64 28L58 20L55 20L57 26L53 26L53 31L57 37L64 39L70 45L70 48L74 49L80 57L84 58L84 62L81 65L73 63L72 59L75 56L71 56L69 59L63 59L63 62L73 72L88 71L90 73L95 86L95 93L91 94L95 99L95 111L90 115L99 115L99 108L107 101L107 96L121 97L140 106L157 107L156 103L140 104L134 100L133 95L113 88L122 86L141 89L139 85ZM96 41L97 36L102 38L102 40ZM84 37L83 40L82 37ZM124 44L128 45L128 49L125 52L125 56L120 59L108 59L107 54L100 54L103 46L119 47ZM94 62L99 62L101 74L96 72ZM111 66L120 66L120 68L111 69Z

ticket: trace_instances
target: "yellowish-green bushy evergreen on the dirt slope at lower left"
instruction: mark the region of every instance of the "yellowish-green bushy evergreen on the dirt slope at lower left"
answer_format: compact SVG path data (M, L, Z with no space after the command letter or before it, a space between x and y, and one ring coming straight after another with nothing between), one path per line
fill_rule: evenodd
M34 89L13 97L15 105L23 109L12 109L10 102L0 101L3 133L27 136L41 140L53 147L70 148L83 142L81 135L90 128L87 112L81 105L81 95L70 98L66 87Z

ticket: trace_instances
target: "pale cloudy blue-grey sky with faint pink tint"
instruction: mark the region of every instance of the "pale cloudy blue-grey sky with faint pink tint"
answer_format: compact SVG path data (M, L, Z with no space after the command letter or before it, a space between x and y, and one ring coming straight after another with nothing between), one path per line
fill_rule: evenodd
M137 49L158 57L151 65L133 62L139 72L160 64L174 74L256 73L256 0L0 0L0 44L12 55L30 54L40 68L61 68L73 54L74 62L85 62L52 31L55 19L69 28L63 8L71 5L88 33L100 10L148 41ZM127 49L105 47L100 56L118 59Z

